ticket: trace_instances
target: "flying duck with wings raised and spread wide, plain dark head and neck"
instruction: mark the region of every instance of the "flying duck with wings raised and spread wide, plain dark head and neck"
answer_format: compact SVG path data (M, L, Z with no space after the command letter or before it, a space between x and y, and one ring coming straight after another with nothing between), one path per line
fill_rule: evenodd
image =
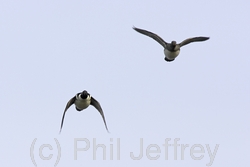
M159 44L161 44L164 47L164 54L165 54L165 60L170 62L173 61L180 53L180 48L184 45L187 45L191 42L200 42L200 41L206 41L209 39L209 37L193 37L188 38L181 43L177 44L176 41L172 41L171 43L165 42L161 37L159 37L157 34L154 34L150 31L139 29L136 27L133 27L133 29L141 34L147 35L154 40L156 40Z

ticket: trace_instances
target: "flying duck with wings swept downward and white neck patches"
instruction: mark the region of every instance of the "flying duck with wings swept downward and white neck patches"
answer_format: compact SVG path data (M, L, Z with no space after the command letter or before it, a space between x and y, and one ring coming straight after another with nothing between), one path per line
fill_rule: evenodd
M86 90L84 90L81 93L77 93L74 97L72 97L68 101L65 107L64 113L63 113L63 117L62 117L60 133L63 127L63 120L64 120L65 113L72 104L75 104L75 108L79 112L86 109L89 105L94 106L101 114L105 127L107 131L109 132L100 103L96 99L94 99L94 97L92 97Z

